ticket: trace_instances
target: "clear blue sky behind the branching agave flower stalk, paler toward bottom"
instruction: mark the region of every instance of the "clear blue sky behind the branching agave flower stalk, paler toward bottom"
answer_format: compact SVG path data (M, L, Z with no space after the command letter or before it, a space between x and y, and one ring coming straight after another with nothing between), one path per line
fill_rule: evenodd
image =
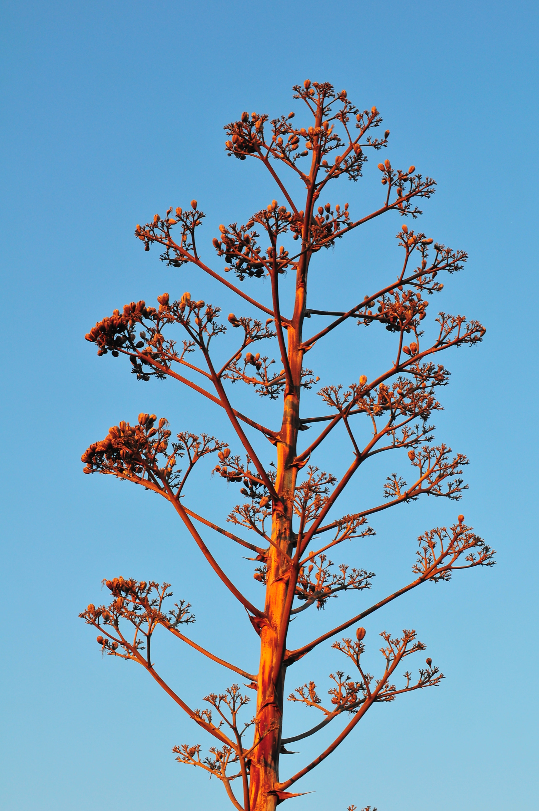
M203 740L196 728L141 669L101 659L77 614L100 602L102 577L167 579L193 605L193 637L257 667L244 614L206 577L167 504L86 477L80 464L91 441L140 410L176 430L211 420L212 432L232 437L221 414L170 381L137 384L125 363L97 358L84 333L114 307L163 290L239 310L207 279L145 254L133 227L196 197L209 241L219 222L246 221L278 197L254 163L226 158L222 126L244 109L299 111L291 85L305 78L347 88L361 109L376 104L391 131L384 157L437 179L419 227L470 260L431 310L462 311L487 333L475 350L446 354L453 374L435 420L438 439L468 453L470 490L458 505L425 500L376 517L375 539L335 556L376 571L372 593L301 615L292 636L307 641L402 585L417 535L461 511L498 550L498 565L427 584L365 622L373 669L377 633L412 627L446 680L373 707L346 749L297 784L316 793L291 803L537 808L537 33L532 2L2 3L6 811L229 807L217 781L175 764L174 744ZM380 195L376 162L358 184L342 181L332 202L366 212ZM311 306L340 309L392 277L399 221L382 220L317 257ZM330 344L309 363L324 383L373 375L392 355L387 333L372 334L360 342L351 324L346 353ZM321 461L338 472L344 452L340 437ZM395 469L406 474L403 459L358 478L343 512L379 498ZM189 503L209 499L222 517L236 494L208 474ZM210 541L222 559L226 547ZM236 557L233 576L260 600L252 564ZM169 640L155 647L193 706L229 683ZM322 646L290 688L314 677L325 693L336 655ZM313 723L298 710L286 732ZM326 740L296 746L283 775Z

